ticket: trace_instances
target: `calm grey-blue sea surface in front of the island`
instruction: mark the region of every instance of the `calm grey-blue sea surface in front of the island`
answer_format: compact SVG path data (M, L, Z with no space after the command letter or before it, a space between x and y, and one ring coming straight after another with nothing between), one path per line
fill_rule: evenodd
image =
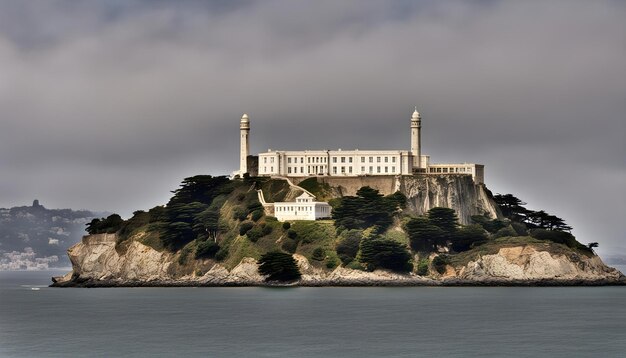
M626 357L626 287L45 287L55 274L0 272L1 357Z

